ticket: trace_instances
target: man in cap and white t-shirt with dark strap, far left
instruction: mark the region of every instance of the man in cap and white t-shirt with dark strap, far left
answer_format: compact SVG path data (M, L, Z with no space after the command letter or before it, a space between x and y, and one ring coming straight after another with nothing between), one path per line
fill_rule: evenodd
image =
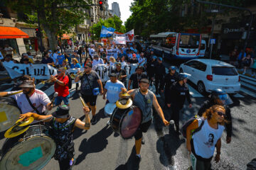
M21 109L21 113L38 113L44 115L46 108L50 111L53 105L50 104L50 99L41 90L36 89L34 79L23 80L21 91L3 91L0 92L0 97L10 96L17 101L18 108Z

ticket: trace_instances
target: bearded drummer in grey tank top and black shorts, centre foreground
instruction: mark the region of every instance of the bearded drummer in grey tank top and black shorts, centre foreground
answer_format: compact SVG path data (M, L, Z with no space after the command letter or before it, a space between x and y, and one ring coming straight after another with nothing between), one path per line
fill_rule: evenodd
M128 93L132 96L132 101L135 106L138 106L142 111L142 123L135 132L135 150L136 150L136 159L137 163L141 161L140 149L142 148L142 132L146 132L149 129L152 121L152 106L156 109L157 113L160 115L163 120L164 125L169 125L169 122L164 118L164 113L159 106L159 103L156 99L156 96L152 91L149 90L149 80L141 79L139 81L139 89L132 89L127 91L123 88L119 93L119 97L122 98L122 94ZM144 142L143 142L144 143Z

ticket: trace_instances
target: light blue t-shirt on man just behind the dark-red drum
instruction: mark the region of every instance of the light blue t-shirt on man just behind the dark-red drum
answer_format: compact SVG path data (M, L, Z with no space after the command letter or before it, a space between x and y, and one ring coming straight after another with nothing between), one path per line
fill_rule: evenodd
M117 80L116 83L112 83L110 80L107 81L105 89L107 89L107 100L110 103L115 103L119 99L121 88L124 88L124 84L121 81Z

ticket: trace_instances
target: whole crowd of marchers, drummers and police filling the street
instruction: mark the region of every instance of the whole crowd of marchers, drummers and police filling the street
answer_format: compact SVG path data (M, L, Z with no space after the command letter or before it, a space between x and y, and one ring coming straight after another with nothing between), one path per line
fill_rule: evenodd
M25 58L26 59L26 58ZM23 60L23 62L26 62ZM55 140L58 144L58 149L55 152L55 159L60 163L60 169L70 169L75 164L74 145L72 137L72 129L74 126L81 129L89 129L90 123L97 123L96 106L97 96L102 94L102 98L107 103L116 103L122 94L127 93L132 96L134 104L142 111L142 123L137 130L135 137L135 149L137 162L140 162L142 157L140 149L145 143L143 133L149 129L153 118L152 108L159 114L164 125L169 125L170 120L174 120L176 135L181 135L179 125L179 112L183 108L185 101L188 101L188 107L192 107L191 96L186 84L189 74L177 73L176 67L171 66L166 73L166 68L163 64L163 58L156 57L154 51L142 48L138 43L128 43L127 45L105 45L95 46L93 44L85 47L75 47L75 49L65 49L45 52L43 55L43 64L50 64L58 69L58 75L51 76L50 81L54 83L55 92L58 96L55 98L55 106L58 106L57 111L53 113L54 120L47 120L52 123L53 127L68 127L63 133L55 132ZM87 103L88 108L84 108L86 115L85 123L79 119L70 116L69 113L69 89L71 88L70 73L68 69L77 70L75 72L76 90ZM105 69L108 71L105 73ZM100 71L99 71L100 70ZM133 71L132 71L133 70ZM105 77L107 77L105 79ZM13 97L24 98L23 95L28 95L35 106L42 104L43 108L36 113L33 111L22 111L21 118L29 118L33 116L36 120L48 118L44 115L44 111L51 109L50 100L43 91L35 89L34 80L27 77L21 84L21 91ZM149 89L150 86L155 86L155 91ZM72 85L72 84L71 84ZM34 94L36 91L36 95ZM16 93L16 91L13 91ZM6 96L13 92L0 92L0 96ZM165 113L162 111L157 101L156 95L163 94L165 98ZM43 96L43 101L38 101L38 96ZM38 97L38 98L37 98ZM24 99L25 100L25 99ZM42 100L42 99L40 99ZM186 147L188 152L193 154L193 160L197 160L193 169L210 169L210 161L213 157L215 147L217 154L215 161L220 160L220 137L224 127L227 128L228 134L226 142L231 142L232 134L232 118L230 108L228 108L228 94L221 89L216 89L212 92L210 100L203 103L199 109L198 115L201 117L193 118L186 126L184 137L186 137ZM64 105L62 105L64 103ZM27 103L24 103L27 104ZM22 105L22 104L21 104ZM23 106L20 106L23 108ZM88 116L92 113L92 118ZM165 116L169 115L166 120ZM167 116L166 116L167 117ZM65 124L65 125L64 125ZM110 125L110 121L107 123ZM200 129L200 130L198 130ZM196 130L196 132L192 132ZM58 128L55 128L58 131ZM60 142L60 135L67 135L64 142ZM68 143L68 145L67 145ZM65 145L65 147L61 147ZM71 146L71 147L70 147Z

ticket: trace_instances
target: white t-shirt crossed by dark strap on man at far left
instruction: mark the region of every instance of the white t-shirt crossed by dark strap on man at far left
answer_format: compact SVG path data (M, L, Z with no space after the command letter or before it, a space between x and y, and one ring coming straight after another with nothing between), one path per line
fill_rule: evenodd
M8 94L13 94L17 91L9 91ZM11 98L14 98L17 101L18 108L21 108L21 113L28 113L28 112L33 112L36 113L36 111L33 111L33 108L30 106L28 103L28 99L26 98L26 95L23 94L23 92L14 94L10 96ZM50 103L50 99L48 96L43 93L43 91L35 89L35 92L29 97L31 100L31 103L39 113L43 113L46 111L46 105Z

